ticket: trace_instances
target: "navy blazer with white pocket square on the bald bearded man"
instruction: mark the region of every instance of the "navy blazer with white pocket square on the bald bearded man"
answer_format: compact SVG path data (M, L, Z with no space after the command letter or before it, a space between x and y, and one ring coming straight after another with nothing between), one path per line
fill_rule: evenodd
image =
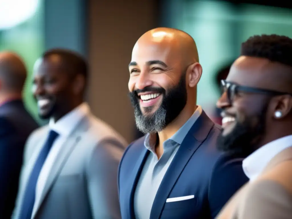
M220 126L203 111L175 154L155 196L150 219L215 218L228 199L248 181L241 157L216 149ZM136 185L149 151L145 137L126 149L118 173L123 219L135 218ZM167 202L167 198L194 195L193 199Z

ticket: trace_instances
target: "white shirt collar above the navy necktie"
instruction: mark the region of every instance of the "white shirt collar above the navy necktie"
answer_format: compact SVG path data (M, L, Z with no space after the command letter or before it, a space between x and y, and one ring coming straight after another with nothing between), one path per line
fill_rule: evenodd
M89 113L89 106L87 103L82 103L56 123L53 118L50 119L49 127L51 130L56 131L59 135L69 136L74 130L77 123Z

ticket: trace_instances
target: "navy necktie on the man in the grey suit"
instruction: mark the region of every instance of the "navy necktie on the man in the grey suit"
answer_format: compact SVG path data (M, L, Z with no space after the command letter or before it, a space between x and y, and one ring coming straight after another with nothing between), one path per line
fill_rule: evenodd
M30 219L32 216L32 209L34 207L34 201L35 201L36 183L39 178L39 173L41 171L41 168L44 165L44 162L48 156L48 153L51 150L53 142L56 140L58 135L59 134L56 133L55 131L51 130L49 132L47 141L44 144L43 148L41 149L41 152L39 153L39 157L36 159L34 168L32 169L32 172L30 173L29 180L27 182L27 187L24 194L24 198L22 201L20 217L19 217L21 219Z

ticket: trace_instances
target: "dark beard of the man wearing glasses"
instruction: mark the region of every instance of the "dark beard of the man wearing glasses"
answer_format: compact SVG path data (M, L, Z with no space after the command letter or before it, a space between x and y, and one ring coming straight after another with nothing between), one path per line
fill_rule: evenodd
M258 142L265 133L265 118L267 114L267 104L262 111L252 118L246 118L244 122L238 122L233 131L226 136L222 134L218 137L218 150L248 156L258 148Z

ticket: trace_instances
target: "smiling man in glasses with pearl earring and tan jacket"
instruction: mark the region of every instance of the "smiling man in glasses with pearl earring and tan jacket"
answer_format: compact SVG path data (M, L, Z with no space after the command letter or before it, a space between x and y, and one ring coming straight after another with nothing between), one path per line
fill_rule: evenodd
M218 147L249 154L250 180L217 218L292 218L292 39L249 38L222 87Z

